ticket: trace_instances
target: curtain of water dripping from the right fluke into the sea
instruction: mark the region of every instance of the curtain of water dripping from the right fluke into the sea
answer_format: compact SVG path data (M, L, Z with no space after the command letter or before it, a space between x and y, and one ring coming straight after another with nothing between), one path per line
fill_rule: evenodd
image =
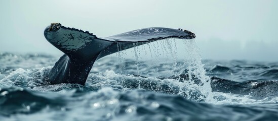
M176 41L179 41L179 44L182 44L182 48L178 48ZM153 59L154 62L162 62L161 64L160 63L154 64L157 66L154 66L155 68L153 72L156 72L158 77L160 76L161 72L159 70L161 70L161 68L165 68L165 69L169 68L169 70L167 70L169 76L174 75L178 77L181 74L188 75L188 79L184 80L183 82L173 82L173 79L163 79L164 83L165 81L167 83L168 82L176 83L174 84L175 86L173 87L171 85L167 87L175 88L176 92L178 92L179 95L183 95L188 99L193 99L196 101L201 101L201 100L212 101L213 96L212 96L212 91L210 86L210 78L205 75L206 70L204 69L203 67L204 65L202 64L200 49L197 47L194 40L166 39L166 40L156 41L153 43L147 43L146 47L140 48L137 46L137 43L133 43L133 46L134 46L133 55L135 57L135 67L137 70L137 72L135 73L136 75L141 75L143 73L140 70L141 69L140 66L142 63L142 56L144 56L142 54L148 56L147 53L149 53L151 59ZM149 52L147 52L146 48L149 49ZM180 55L180 53L177 52L177 49L181 49L180 51L182 52L180 53L185 52L185 55ZM144 52L142 50L144 50ZM154 57L152 53L154 53ZM184 60L183 64L180 63L178 64L179 56L183 56L183 60ZM166 57L166 58L161 58L161 57ZM123 60L124 57L122 56L122 53L118 54L118 58L120 59L120 63L124 61ZM161 61L162 59L163 61ZM121 80L123 81L125 79L121 79ZM138 80L142 81L141 78ZM176 80L181 80L181 77ZM196 80L199 80L201 82L196 84L194 83ZM145 81L142 82L148 83ZM127 82L125 82L125 84L129 85ZM158 83L149 83L148 86L146 86L143 83L138 82L139 85L138 88L145 86L145 88L153 90L154 88L152 84L155 84L153 86L155 87L156 91L161 91L159 89L157 90L157 88L162 88L158 86L160 85ZM140 86L140 85L144 85L144 86ZM179 89L176 89L177 87Z

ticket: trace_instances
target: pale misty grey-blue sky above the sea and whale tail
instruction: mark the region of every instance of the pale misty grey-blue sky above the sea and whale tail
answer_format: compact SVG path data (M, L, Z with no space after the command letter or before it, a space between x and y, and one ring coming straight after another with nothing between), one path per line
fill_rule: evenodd
M0 1L0 52L62 54L50 23L106 37L146 27L196 34L203 58L278 61L278 1Z

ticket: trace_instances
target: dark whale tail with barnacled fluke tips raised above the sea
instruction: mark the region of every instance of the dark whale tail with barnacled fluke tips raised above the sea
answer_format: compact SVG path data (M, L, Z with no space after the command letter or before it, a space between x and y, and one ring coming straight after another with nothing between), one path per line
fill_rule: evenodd
M135 46L167 39L193 39L195 34L182 29L152 27L129 31L109 37L52 23L44 31L45 38L64 55L50 70L50 84L77 83L85 85L93 64L98 59Z

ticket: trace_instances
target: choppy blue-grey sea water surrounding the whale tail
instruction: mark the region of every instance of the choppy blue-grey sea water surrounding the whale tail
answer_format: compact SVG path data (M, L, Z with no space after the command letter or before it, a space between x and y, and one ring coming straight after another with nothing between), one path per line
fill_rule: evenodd
M194 40L134 46L85 86L45 81L58 56L0 53L0 120L278 120L278 63L202 60Z

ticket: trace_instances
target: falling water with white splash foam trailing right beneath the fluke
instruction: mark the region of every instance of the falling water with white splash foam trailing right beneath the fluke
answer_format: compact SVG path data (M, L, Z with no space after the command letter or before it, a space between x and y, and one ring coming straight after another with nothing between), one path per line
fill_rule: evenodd
M137 46L136 43L133 46L133 49L129 52L133 52L131 55L133 55L135 61L129 60L131 63L128 64L128 71L125 66L121 66L119 70L122 74L123 71L126 71L129 72L127 75L136 74L139 77L132 77L132 75L130 75L131 77L125 77L122 74L121 77L123 78L115 79L111 77L114 81L120 81L120 85L125 88L143 88L155 92L178 94L189 100L214 104L255 101L249 99L250 96L234 97L236 95L213 92L211 79L206 75L200 49L194 40L165 39L147 43L142 45L143 47ZM128 56L126 53L128 53L127 50L124 50L117 54L120 61L118 65L126 65L125 62L128 61L125 60L125 56ZM144 61L146 64L143 64L143 58L146 56L149 56L150 64L147 64L146 61ZM183 61L178 60L178 58L182 58ZM142 65L152 65L152 68L148 70ZM131 67L133 70L130 70ZM151 76L148 76L148 73L151 73Z

